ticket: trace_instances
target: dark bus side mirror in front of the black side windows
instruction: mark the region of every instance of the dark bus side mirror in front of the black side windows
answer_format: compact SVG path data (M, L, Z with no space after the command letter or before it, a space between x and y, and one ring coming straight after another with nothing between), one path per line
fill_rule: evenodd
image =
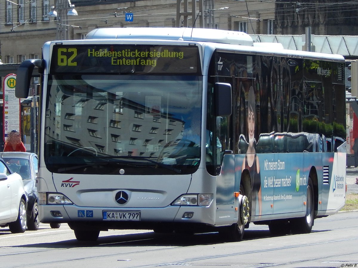
M229 83L215 83L215 115L227 116L232 113L232 92Z

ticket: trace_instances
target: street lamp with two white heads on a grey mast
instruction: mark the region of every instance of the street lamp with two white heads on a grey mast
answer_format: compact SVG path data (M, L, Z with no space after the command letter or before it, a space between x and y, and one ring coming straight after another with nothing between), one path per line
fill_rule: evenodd
M71 4L71 0L67 0L67 3L63 3L63 0L58 0L57 2L57 11L55 7L51 7L51 11L48 13L49 17L56 17L58 20L57 23L57 40L69 40L69 26L67 24L62 24L62 18L64 17L64 21L68 21L68 16L78 16L76 9L74 9L74 5ZM67 13L66 13L67 10Z

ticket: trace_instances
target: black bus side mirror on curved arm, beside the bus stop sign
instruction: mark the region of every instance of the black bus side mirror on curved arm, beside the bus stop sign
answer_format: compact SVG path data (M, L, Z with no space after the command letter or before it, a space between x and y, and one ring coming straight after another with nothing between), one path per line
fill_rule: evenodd
M24 60L16 72L15 96L19 99L26 99L29 96L30 81L32 72L37 66L42 68L42 59Z

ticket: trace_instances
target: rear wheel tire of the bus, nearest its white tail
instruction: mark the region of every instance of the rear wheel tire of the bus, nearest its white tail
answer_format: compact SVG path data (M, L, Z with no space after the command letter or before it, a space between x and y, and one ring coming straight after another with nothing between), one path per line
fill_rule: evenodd
M311 178L308 178L306 215L301 218L290 219L293 234L308 234L314 224L314 189Z

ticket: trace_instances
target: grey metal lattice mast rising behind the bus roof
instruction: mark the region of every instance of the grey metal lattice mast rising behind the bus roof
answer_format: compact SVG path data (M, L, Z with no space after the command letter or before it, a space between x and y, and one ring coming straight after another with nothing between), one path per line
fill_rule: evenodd
M191 11L188 11L188 0L183 0L183 12L181 12L182 0L176 0L176 27L181 27L181 17L183 16L183 27L188 27L188 20L192 20L192 28L195 28L197 20L199 20L199 27L204 28L203 23L203 0L195 1L191 0ZM199 12L196 11L196 5L199 2ZM188 18L191 16L190 18Z

